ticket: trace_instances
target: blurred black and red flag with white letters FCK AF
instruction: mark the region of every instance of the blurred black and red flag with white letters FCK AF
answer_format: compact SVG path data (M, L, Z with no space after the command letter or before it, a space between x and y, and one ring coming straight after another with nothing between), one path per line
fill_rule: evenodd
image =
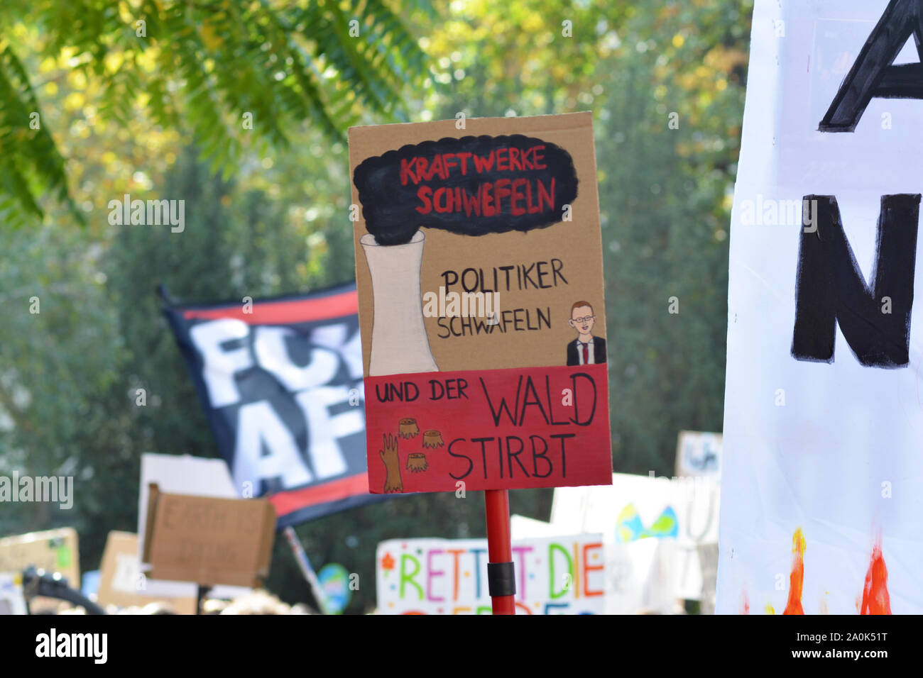
M238 492L280 529L370 500L355 284L163 311Z

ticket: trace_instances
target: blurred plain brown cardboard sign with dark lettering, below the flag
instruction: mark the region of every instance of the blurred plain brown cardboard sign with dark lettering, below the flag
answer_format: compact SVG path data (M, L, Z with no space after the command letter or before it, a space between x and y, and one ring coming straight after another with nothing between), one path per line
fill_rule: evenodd
M219 499L148 489L142 560L158 579L258 586L269 576L276 512L264 499Z

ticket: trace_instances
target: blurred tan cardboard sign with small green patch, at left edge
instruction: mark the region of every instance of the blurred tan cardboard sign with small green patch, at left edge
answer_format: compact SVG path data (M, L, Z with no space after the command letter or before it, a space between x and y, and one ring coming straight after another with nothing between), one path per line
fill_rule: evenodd
M0 572L22 571L29 565L58 572L72 588L79 589L77 530L48 529L0 539Z

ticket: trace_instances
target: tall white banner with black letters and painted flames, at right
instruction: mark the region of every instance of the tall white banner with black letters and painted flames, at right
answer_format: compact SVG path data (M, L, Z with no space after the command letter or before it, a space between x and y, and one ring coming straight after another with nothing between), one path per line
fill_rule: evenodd
M718 613L923 612L921 21L917 0L755 5Z

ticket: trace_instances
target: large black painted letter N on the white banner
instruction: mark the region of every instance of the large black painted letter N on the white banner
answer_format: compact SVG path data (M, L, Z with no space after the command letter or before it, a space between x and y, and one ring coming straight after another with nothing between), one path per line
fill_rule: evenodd
M908 363L914 303L920 196L881 196L878 247L870 289L846 240L833 196L805 196L814 208L814 232L801 233L792 355L833 363L836 323L859 363ZM816 203L809 201L816 200ZM890 297L890 303L882 302Z

